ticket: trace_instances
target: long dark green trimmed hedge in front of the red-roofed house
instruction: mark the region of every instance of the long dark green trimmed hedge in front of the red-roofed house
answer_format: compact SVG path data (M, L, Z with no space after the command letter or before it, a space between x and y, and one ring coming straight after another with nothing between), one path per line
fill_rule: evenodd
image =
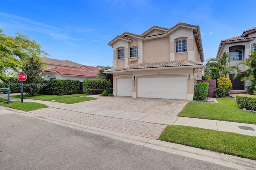
M42 82L42 89L40 94L80 94L80 81L79 80L44 80Z

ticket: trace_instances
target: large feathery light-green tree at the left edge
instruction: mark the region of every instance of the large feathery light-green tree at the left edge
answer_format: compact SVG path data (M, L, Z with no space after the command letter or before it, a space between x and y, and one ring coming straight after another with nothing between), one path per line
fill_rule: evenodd
M8 72L19 72L24 61L30 57L39 59L39 56L48 54L41 50L41 45L28 39L27 35L16 33L15 37L3 34L0 29L0 77Z

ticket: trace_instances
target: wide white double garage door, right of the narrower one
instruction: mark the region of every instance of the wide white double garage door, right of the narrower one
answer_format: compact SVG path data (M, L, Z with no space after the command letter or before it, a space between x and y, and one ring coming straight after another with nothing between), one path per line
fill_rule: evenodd
M187 77L138 77L139 98L187 99Z

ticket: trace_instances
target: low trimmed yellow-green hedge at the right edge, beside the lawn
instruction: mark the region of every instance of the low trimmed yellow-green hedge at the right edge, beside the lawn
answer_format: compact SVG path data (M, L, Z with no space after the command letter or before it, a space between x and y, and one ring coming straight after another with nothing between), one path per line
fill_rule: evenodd
M250 94L238 94L236 95L236 102L240 108L246 108L248 110L256 110L256 96Z

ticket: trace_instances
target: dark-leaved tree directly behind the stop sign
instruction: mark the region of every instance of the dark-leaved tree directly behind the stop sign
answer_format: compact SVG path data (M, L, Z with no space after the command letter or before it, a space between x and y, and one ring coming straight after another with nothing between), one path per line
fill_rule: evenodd
M24 92L34 96L41 89L40 83L42 82L41 74L45 68L44 63L40 58L30 57L24 62L22 69L28 76L26 80L26 86L24 86Z

